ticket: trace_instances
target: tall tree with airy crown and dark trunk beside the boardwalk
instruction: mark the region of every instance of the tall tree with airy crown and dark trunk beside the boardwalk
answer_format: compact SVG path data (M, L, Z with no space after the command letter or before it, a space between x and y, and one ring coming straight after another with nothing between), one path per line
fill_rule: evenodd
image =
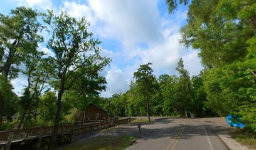
M55 16L52 11L43 14L43 21L51 27L51 39L47 47L55 53L51 58L52 72L55 77L54 87L58 90L55 122L53 126L53 144L56 146L58 125L61 112L61 98L65 91L73 87L78 79L87 73L97 73L110 63L109 58L100 56L98 39L88 32L85 17L75 19L61 12Z

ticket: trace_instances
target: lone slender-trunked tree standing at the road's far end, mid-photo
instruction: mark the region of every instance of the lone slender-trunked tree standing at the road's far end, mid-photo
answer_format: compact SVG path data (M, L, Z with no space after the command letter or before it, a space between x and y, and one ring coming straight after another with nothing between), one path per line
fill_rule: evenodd
M154 92L154 81L155 76L152 74L153 70L149 66L152 63L142 64L137 72L134 73L134 78L136 79L136 88L137 94L144 100L146 103L147 109L147 121L150 122L150 109L149 109L149 101L150 96Z

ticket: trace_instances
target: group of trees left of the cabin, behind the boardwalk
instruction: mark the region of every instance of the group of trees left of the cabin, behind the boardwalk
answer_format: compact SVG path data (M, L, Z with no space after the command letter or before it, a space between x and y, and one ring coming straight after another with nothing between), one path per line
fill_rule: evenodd
M70 122L72 104L79 103L68 96L79 95L84 104L104 90L99 71L111 60L102 56L85 17L19 7L1 14L0 22L0 129L53 126L55 148L58 127ZM26 76L21 96L11 85L18 75Z

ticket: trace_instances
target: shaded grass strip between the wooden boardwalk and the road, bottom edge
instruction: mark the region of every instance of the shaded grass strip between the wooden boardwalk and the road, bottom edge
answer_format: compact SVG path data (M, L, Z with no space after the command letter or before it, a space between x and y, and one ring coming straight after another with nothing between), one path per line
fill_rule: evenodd
M117 150L125 149L130 146L134 141L133 136L124 135L120 137L116 136L99 136L90 138L83 144L76 146L68 146L65 150Z

